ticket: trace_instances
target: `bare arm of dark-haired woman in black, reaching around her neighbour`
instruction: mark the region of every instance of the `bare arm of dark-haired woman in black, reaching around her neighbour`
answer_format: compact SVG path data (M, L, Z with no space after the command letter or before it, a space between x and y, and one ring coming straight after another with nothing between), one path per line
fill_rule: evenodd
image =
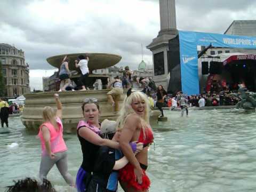
M84 138L86 141L93 143L98 146L108 146L114 149L119 149L119 143L116 141L111 141L109 139L102 139L98 134L94 133L87 127L81 127L78 134Z

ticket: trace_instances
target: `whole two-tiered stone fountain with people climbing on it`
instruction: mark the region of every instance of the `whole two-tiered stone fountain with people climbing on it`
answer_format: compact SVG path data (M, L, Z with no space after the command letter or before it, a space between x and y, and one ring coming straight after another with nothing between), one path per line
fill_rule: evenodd
M108 103L107 92L110 90L104 89L107 85L107 75L92 74L91 71L95 69L103 69L107 67L114 66L121 60L121 56L115 54L106 53L76 53L76 54L63 54L47 58L47 62L50 65L60 68L61 61L68 56L70 60L69 69L78 70L75 68L75 60L78 55L88 55L90 61L88 67L90 70L89 77L92 82L96 79L101 79L102 90L86 90L86 91L66 91L58 92L60 95L60 100L62 102L62 123L64 126L64 131L66 133L76 132L76 126L80 119L83 118L81 103L85 98L96 98L100 105L100 121L103 119L115 120L117 117L117 112L114 111L113 107ZM79 77L79 74L71 77L75 81ZM55 108L55 100L53 94L55 92L43 92L43 93L30 93L26 94L25 109L21 116L21 121L23 125L26 126L28 130L38 130L39 125L42 123L42 110L45 106L50 106ZM126 90L124 90L126 93ZM122 95L119 103L122 106L125 94ZM156 121L159 116L159 111L151 111L150 121Z

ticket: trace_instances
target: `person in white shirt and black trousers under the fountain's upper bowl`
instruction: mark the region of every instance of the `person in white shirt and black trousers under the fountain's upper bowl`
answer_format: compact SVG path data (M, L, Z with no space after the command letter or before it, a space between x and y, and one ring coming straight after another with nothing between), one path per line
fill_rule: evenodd
M79 62L75 60L75 66L76 68L80 68L82 74L81 77L79 78L79 82L82 85L82 90L89 89L86 85L89 82L89 68L88 68L88 62L89 62L89 57L84 55L79 55L78 56Z

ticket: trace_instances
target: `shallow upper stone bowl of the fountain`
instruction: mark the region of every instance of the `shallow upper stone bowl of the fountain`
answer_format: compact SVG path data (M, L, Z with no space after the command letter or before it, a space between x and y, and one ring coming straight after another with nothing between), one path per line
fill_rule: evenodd
M72 53L56 55L47 58L46 60L50 63L51 66L60 68L61 61L66 55L68 56L68 59L70 61L68 66L70 70L77 70L77 68L75 67L75 60L77 60L78 55L88 55L88 67L90 71L95 69L105 69L114 66L122 59L120 55L108 53Z

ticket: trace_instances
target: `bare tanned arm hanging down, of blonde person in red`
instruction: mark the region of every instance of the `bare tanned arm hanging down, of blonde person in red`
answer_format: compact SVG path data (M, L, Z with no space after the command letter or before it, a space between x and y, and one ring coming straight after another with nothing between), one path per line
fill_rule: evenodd
M137 177L139 183L142 183L142 169L140 163L132 152L129 142L132 140L133 134L136 131L138 125L140 124L140 119L137 115L130 115L127 117L124 127L122 129L119 145L120 148L128 159L128 161L134 166L134 173Z

